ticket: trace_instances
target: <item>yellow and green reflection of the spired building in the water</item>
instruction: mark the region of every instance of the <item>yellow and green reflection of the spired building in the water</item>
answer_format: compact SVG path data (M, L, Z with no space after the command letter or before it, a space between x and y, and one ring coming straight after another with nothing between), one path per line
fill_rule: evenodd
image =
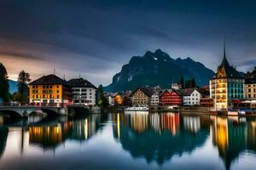
M221 117L213 117L212 121L212 143L218 146L219 156L223 159L226 169L230 169L232 161L236 160L241 152L256 151L255 122L233 122Z

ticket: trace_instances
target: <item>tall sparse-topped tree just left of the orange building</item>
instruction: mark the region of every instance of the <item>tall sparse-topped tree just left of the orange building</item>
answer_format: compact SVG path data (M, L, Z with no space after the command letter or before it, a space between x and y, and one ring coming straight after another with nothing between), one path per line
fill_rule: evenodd
M29 73L20 71L18 77L18 92L20 94L20 103L28 103L29 88L28 83L31 81Z

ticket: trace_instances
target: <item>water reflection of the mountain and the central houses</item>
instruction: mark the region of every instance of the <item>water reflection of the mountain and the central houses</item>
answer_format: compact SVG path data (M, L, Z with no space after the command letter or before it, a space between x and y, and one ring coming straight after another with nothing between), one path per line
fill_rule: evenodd
M133 157L144 157L148 162L157 161L159 164L174 155L181 156L183 152L195 150L205 143L209 134L209 127L202 128L196 134L191 133L193 127L180 127L182 120L175 113L131 114L116 118L121 124L113 128L113 134L122 147ZM186 117L186 122L197 123L193 117ZM195 125L198 126L200 124Z

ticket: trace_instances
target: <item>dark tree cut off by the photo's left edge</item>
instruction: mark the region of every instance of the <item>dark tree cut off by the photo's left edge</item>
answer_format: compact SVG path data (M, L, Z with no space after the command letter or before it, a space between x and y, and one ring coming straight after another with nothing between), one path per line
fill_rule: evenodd
M0 99L2 99L3 102L9 101L8 73L2 63L0 63Z

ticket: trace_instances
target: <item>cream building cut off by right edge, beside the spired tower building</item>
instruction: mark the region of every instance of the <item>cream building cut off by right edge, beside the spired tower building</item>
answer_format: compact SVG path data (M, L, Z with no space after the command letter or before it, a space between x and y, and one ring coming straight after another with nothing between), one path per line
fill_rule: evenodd
M245 75L245 94L246 99L256 99L256 66L252 72Z

